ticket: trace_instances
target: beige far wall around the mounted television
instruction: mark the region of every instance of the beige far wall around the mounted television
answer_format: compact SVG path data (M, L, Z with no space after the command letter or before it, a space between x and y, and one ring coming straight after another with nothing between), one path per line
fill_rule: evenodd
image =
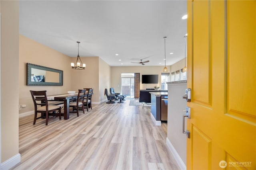
M170 71L170 66L166 66ZM116 93L121 92L121 73L140 73L140 89L154 88L160 86L161 73L164 66L120 66L111 67L111 87L115 89ZM142 84L142 74L158 74L158 84ZM109 90L109 89L108 89Z

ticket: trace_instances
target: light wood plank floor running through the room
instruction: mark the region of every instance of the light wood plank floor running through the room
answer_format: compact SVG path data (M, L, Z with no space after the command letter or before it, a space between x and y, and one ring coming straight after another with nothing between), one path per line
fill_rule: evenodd
M70 119L19 120L21 162L15 170L179 169L166 145L167 125L155 126L150 106L92 105Z

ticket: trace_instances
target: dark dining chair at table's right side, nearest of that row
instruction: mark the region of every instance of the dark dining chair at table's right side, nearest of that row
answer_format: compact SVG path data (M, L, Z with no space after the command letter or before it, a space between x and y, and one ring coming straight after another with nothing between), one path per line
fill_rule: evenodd
M77 99L74 102L69 103L69 107L72 107L71 113L77 113L77 117L79 116L79 107L82 107L82 111L84 112L84 96L86 90L78 90Z

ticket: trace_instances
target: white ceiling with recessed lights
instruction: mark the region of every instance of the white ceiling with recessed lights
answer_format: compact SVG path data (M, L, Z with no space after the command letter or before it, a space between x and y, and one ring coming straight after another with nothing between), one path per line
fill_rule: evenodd
M150 61L145 66L164 66L166 36L166 65L184 58L185 0L22 0L19 4L20 34L70 57L77 56L76 41L80 41L80 57L98 56L110 66L141 66L131 63L140 59Z

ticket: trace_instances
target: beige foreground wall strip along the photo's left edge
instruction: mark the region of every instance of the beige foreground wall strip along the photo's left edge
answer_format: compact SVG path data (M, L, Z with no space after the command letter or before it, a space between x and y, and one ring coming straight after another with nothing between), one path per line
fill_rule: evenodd
M19 2L1 4L1 162L19 153Z

